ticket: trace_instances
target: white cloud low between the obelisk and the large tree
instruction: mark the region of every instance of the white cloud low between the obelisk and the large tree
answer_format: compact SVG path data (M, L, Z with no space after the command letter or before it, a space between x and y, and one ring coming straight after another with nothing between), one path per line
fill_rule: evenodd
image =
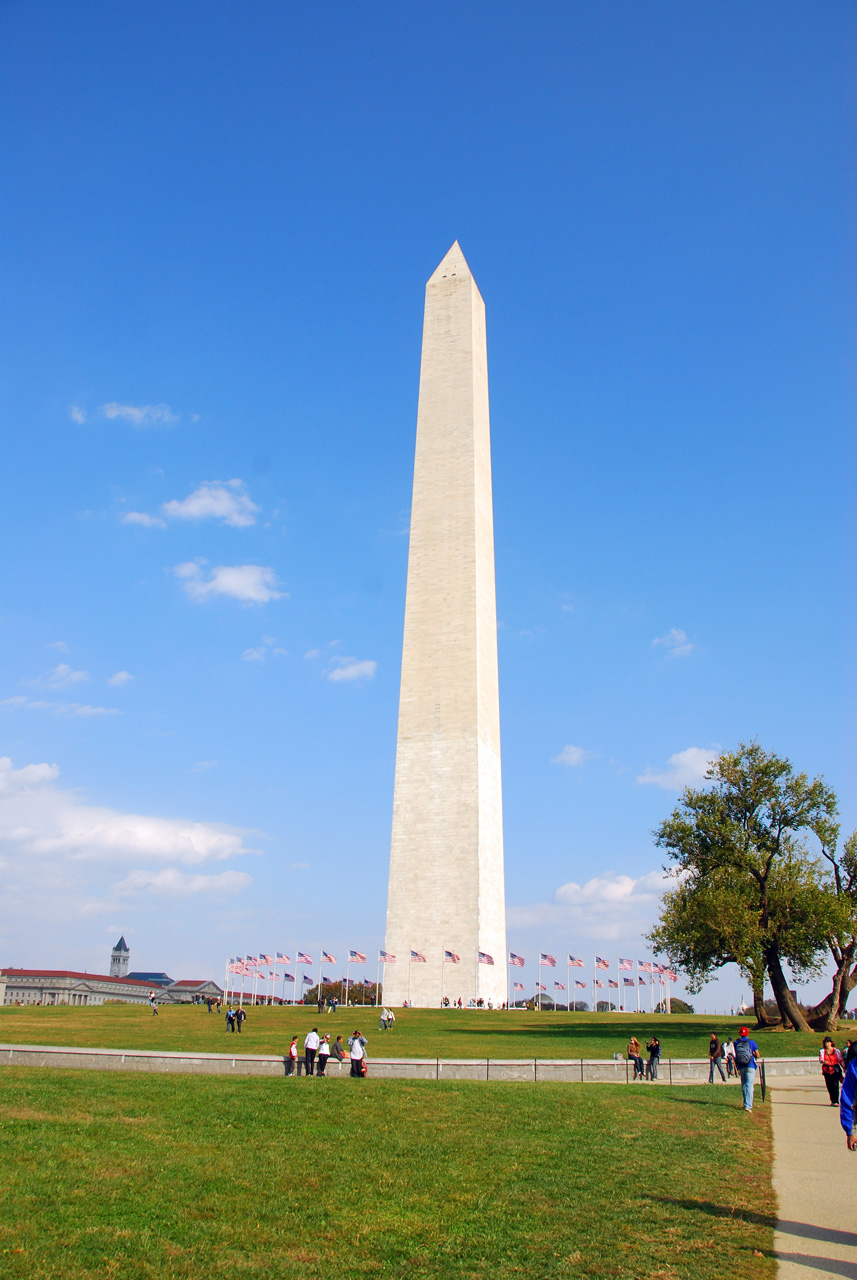
M576 946L583 938L599 943L620 938L624 943L652 925L661 895L674 883L674 877L660 870L636 878L604 872L582 884L576 881L560 884L553 902L512 906L507 919L517 929L570 929Z

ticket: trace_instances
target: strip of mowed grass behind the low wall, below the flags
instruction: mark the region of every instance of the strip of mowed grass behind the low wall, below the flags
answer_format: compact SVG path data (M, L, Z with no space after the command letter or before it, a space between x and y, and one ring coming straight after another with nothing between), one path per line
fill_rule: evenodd
M203 1053L285 1053L293 1034L311 1027L348 1039L359 1028L370 1057L611 1057L625 1052L628 1038L643 1042L652 1032L664 1057L706 1057L709 1037L738 1033L738 1018L647 1014L565 1014L500 1010L399 1009L390 1032L379 1029L371 1007L318 1014L312 1007L249 1007L243 1033L226 1032L224 1014L201 1005L164 1005L157 1018L145 1005L93 1007L0 1007L0 1043L79 1044L90 1048L191 1050ZM844 1043L843 1032L838 1043ZM857 1034L857 1029L854 1032ZM821 1036L759 1032L766 1057L817 1053Z

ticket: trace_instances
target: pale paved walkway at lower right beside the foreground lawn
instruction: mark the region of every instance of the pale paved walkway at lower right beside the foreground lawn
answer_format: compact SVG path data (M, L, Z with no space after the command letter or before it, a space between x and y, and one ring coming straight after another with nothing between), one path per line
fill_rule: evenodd
M774 1106L779 1280L857 1280L857 1152L845 1148L839 1108L830 1106L820 1075L812 1083L778 1080L767 1096Z

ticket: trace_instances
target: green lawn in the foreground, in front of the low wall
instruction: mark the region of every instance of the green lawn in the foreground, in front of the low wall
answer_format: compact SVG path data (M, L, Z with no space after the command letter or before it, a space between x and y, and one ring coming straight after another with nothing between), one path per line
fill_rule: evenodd
M4 1280L774 1277L734 1091L0 1071Z

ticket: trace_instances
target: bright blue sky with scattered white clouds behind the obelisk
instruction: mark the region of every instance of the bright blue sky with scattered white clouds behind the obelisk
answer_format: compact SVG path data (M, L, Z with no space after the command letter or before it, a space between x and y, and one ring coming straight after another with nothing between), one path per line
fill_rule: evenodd
M0 32L3 963L382 941L455 238L510 946L637 954L651 829L718 746L824 773L853 828L852 5L9 3Z

